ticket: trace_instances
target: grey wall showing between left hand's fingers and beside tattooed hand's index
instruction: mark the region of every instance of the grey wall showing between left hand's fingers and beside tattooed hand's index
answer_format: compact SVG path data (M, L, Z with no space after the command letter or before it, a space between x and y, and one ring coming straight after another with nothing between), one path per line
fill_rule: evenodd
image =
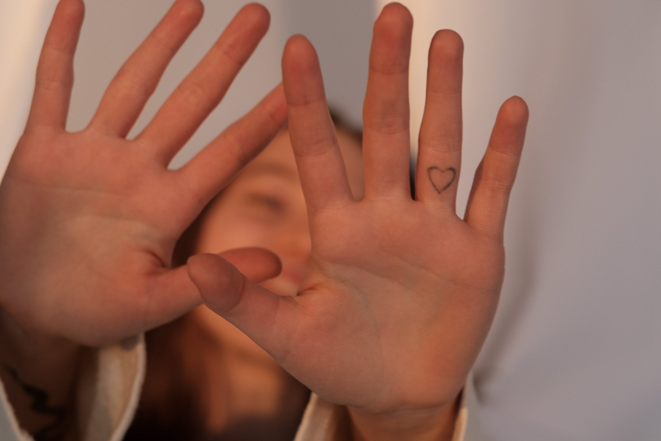
M155 114L179 81L204 56L245 0L206 0L200 26L176 55L136 124L136 134ZM223 128L247 112L281 79L280 57L287 38L305 34L317 47L327 95L352 122L360 122L367 80L371 24L370 0L264 0L271 28L227 93L195 136L173 161L178 167ZM75 85L69 130L89 122L118 67L169 8L170 1L89 0L75 60Z

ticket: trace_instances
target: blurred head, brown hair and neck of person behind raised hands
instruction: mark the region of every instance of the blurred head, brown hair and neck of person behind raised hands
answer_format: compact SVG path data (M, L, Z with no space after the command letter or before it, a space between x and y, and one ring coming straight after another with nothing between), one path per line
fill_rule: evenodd
M362 134L333 114L352 192L362 198ZM311 252L305 200L284 130L202 210L175 263L217 249L263 247L282 272L262 286L295 296ZM126 441L291 441L309 390L236 327L200 306L147 333L147 376Z

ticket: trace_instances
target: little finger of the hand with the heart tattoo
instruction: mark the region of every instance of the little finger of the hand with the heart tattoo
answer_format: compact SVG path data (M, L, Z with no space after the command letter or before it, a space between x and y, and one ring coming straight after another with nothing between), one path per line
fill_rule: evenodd
M524 147L528 108L520 97L498 111L485 157L475 173L465 220L475 229L502 240L505 214Z

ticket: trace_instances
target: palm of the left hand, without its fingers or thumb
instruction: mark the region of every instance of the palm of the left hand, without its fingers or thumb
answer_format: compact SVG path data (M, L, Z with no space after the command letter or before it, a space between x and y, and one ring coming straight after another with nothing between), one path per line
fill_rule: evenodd
M34 145L48 149L35 155ZM182 213L196 210L174 177L136 153L128 141L95 134L28 135L7 171L3 224L20 237L3 242L3 261L38 274L11 281L7 292L38 293L49 320L65 323L58 333L67 337L88 329L89 342L115 340L153 323L148 308L161 293L149 276L167 270L176 238L190 223ZM48 256L49 264L35 255ZM27 308L34 298L20 301Z

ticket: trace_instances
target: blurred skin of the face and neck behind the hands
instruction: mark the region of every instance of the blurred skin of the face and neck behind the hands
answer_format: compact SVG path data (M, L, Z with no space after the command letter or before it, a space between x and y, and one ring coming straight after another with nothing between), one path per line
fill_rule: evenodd
M352 191L361 198L364 177L360 141L342 131L338 141ZM305 198L286 130L215 200L200 225L194 251L206 253L243 247L263 247L280 257L282 272L261 286L280 296L297 294L307 270L311 243ZM229 370L226 378L210 378L202 391L206 397L208 433L221 433L231 424L229 419L238 421L246 416L289 417L293 423L301 418L302 409L284 411L284 416L280 407L282 395L305 396L305 387L292 383L266 351L208 307L200 306L192 314L217 341L217 350L208 351L210 358L214 358L209 362ZM229 402L223 393L226 381L234 392ZM276 439L275 434L269 439Z

